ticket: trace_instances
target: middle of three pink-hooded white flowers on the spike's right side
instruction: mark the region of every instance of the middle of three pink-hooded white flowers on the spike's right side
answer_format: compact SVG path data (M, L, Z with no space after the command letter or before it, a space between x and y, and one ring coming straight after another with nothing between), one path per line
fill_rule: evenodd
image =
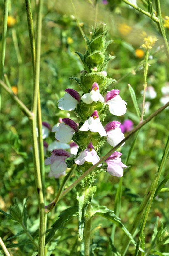
M121 129L119 128L120 125L120 122L112 121L106 124L105 126L105 131L107 133L107 142L112 147L115 147L117 144L121 142L121 140L124 139L124 134L121 132ZM121 146L123 146L124 143Z

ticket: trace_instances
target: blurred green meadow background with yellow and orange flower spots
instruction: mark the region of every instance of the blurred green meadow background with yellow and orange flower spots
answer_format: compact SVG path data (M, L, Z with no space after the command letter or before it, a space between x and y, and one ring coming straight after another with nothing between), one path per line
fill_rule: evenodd
M36 1L31 1L33 12L34 29L36 29L37 6ZM143 59L144 50L140 48L143 44L143 31L148 36L156 36L158 41L151 50L149 60L148 86L153 86L157 92L154 99L147 98L150 102L148 116L162 106L160 99L164 97L161 88L167 86L168 64L165 50L161 45L163 41L155 23L147 16L130 8L122 1L73 1L76 15L81 28L87 37L90 38L91 26L97 22L106 23L108 34L107 39L114 42L108 47L107 55L115 55L116 59L111 61L107 68L107 77L114 78L117 83L111 84L108 90L119 89L123 100L128 104L127 112L124 116L112 116L108 114L107 122L117 120L121 123L125 119L130 119L134 127L139 120L133 106L128 89L128 83L132 85L136 93L138 105L141 108L143 90ZM139 7L146 10L142 1L137 1ZM154 1L153 1L154 4ZM0 1L1 17L3 17L3 1ZM168 1L161 1L162 16L168 14ZM97 17L95 15L98 8ZM13 18L13 19L12 19ZM2 21L2 18L1 18ZM2 24L1 24L2 33ZM166 27L168 35L168 28ZM85 41L77 27L75 13L71 1L44 1L43 21L42 21L42 44L40 63L40 98L42 108L42 121L48 122L51 127L58 122L58 119L67 117L66 111L61 111L57 107L57 100L64 94L64 89L73 88L79 90L77 84L69 80L70 76L80 77L83 65L75 51L85 53ZM6 38L6 56L4 73L7 75L13 91L30 109L33 92L32 61L29 44L29 35L26 18L25 1L13 0L9 3L9 17ZM72 111L69 111L70 118L78 121ZM30 128L28 118L21 113L16 103L10 96L2 91L2 113L1 113L1 209L9 212L9 206L14 204L16 199L22 204L25 197L27 201L28 228L32 234L38 229L38 207L34 184L33 159L31 151ZM128 228L134 218L135 212L145 194L146 189L154 178L162 158L168 136L168 110L152 119L139 132L137 143L132 156L129 159L129 169L124 171L123 194L120 218ZM119 150L122 152L122 162L129 152L132 136ZM45 140L48 144L55 140L55 134ZM102 155L106 154L111 146L102 149ZM50 156L47 152L46 157ZM49 166L46 170L46 193L47 204L54 199L62 177L55 179L48 177ZM161 180L168 173L168 166L165 165ZM76 174L69 181L70 185L76 179ZM97 192L93 203L101 204L114 210L114 198L119 183L119 178L110 176L107 172L97 175ZM165 187L168 187L166 184ZM58 206L48 215L48 228L57 220L60 212L70 206L76 205L76 191L73 189ZM160 193L153 202L148 222L145 227L146 247L150 247L150 240L156 217L168 224L168 195L167 192ZM55 238L57 248L51 255L71 255L72 245L77 241L77 248L80 242L77 240L77 219L73 219L66 225L69 229L60 229ZM5 241L21 230L19 224L12 222L1 215L1 237ZM121 248L121 237L123 233L117 228L115 235L115 246ZM94 255L105 255L108 244L108 236L111 233L111 223L100 217L95 217L92 221L91 238L93 246L96 244ZM25 235L24 235L25 236ZM22 241L23 237L16 238ZM15 239L14 239L15 240ZM9 240L11 242L16 242ZM50 243L49 243L50 244ZM64 245L64 246L63 246ZM11 248L11 255L31 255L33 252L31 245ZM120 249L119 249L120 250ZM129 255L133 255L134 246L129 247ZM167 252L167 247L162 249ZM78 254L80 255L80 254Z

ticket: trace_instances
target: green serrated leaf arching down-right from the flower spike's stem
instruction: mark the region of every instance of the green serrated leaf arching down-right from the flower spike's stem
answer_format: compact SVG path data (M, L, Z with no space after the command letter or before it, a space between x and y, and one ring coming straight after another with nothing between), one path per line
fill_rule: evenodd
M103 218L106 218L110 221L112 221L116 226L118 226L119 228L121 228L121 230L126 234L126 236L128 236L128 238L130 239L130 241L136 246L136 243L132 237L132 235L130 234L130 232L125 228L125 226L123 225L123 223L121 222L121 219L118 218L115 214L114 211L108 209L106 206L93 206L92 207L92 216L94 215L99 215L102 216ZM143 251L140 248L141 251Z

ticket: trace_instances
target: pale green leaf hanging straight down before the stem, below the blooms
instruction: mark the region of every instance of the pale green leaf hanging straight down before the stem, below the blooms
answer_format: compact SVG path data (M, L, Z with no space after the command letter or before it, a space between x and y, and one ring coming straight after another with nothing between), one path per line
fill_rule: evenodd
M83 180L76 186L77 200L79 201L79 238L83 239L83 231L85 227L86 210L89 203L92 201L93 195L96 192L96 186L86 184L87 181Z

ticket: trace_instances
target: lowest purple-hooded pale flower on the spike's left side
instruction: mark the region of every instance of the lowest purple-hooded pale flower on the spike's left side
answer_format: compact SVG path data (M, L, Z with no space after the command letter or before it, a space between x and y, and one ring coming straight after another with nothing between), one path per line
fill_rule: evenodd
M53 174L59 174L66 170L67 164L65 160L68 157L73 157L74 155L63 150L63 149L55 149L51 152L51 157L45 159L45 164L50 164L50 171Z

